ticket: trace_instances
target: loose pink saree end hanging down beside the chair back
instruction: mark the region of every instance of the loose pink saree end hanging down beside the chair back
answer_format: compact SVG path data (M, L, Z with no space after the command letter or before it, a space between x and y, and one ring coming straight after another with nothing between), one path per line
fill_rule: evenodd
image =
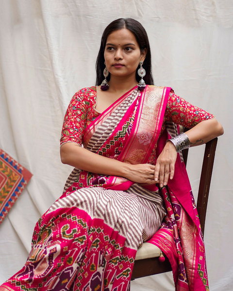
M174 124L168 123L166 128L158 143L158 155L166 140L177 134ZM182 154L178 154L174 178L162 189L167 214L148 242L157 245L169 259L176 290L209 291L198 211L182 161Z

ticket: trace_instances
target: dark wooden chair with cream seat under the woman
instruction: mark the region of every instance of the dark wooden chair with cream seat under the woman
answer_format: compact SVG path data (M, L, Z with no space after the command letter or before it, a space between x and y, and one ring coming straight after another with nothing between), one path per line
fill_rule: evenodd
M204 235L205 216L207 202L210 190L210 182L215 159L215 151L217 138L209 141L205 146L202 170L200 176L197 210L200 218L202 234ZM183 150L183 159L186 166L188 149ZM165 256L165 261L159 261L160 249L149 243L144 242L142 247L138 249L131 280L136 278L165 273L171 271L169 260Z

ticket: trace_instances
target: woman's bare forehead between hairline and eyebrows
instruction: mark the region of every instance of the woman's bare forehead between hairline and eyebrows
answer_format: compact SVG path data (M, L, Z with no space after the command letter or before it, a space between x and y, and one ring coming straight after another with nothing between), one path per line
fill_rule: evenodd
M138 46L135 36L128 29L121 29L112 32L107 37L106 45L125 46L128 44Z

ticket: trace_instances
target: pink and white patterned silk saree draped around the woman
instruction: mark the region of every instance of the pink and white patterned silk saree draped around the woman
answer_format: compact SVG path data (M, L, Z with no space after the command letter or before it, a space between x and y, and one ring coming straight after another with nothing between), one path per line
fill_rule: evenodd
M146 163L169 92L133 88L85 129L84 147L121 162ZM157 155L174 130L168 126L160 137ZM167 214L157 232L165 211L156 185L74 169L64 190L35 226L29 258L4 284L7 290L128 290L136 250L148 239L170 260L176 290L208 290L200 223L179 155L174 179L160 193Z

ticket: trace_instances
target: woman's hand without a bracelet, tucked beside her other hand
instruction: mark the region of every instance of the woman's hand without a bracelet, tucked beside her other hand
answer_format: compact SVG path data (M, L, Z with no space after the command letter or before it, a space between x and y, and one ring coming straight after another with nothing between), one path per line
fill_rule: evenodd
M159 181L154 180L154 165L150 164L126 164L125 178L136 183L155 184Z

